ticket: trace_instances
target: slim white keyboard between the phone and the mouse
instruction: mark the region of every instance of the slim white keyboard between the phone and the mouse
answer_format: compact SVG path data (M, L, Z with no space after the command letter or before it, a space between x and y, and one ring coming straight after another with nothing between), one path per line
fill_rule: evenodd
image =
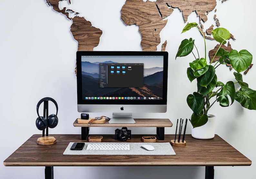
M86 150L130 150L130 144L88 144Z

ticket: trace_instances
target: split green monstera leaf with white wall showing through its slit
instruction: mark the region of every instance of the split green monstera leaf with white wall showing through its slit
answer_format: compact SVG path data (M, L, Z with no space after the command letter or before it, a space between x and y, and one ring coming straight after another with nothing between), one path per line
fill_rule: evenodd
M233 81L228 81L226 85L222 86L221 91L217 95L217 101L220 102L220 105L222 107L229 106L228 95L231 98L231 104L233 104L236 96L236 90Z

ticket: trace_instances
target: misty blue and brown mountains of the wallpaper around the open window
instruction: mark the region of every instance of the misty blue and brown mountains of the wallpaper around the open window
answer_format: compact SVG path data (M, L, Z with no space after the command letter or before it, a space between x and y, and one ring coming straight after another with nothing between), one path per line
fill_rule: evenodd
M82 97L160 97L162 99L163 68L154 67L143 70L143 87L101 88L99 85L99 63L113 61L82 61ZM86 71L86 72L85 72ZM132 79L131 79L132 80ZM88 85L90 84L90 85Z

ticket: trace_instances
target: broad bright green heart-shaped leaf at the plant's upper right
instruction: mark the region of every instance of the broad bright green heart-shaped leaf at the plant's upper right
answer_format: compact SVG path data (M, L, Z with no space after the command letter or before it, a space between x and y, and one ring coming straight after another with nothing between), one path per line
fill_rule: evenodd
M240 73L241 71L247 70L251 65L252 55L247 50L231 50L229 53L229 60L235 71Z

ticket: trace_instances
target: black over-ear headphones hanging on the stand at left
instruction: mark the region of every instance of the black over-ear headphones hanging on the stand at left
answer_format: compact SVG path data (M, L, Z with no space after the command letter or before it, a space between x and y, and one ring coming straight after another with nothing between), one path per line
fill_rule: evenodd
M39 116L39 112L38 112L40 104L42 104L42 102L44 102L44 101L52 101L56 107L56 114L49 115L47 117L47 119L45 119L43 116ZM58 105L54 99L49 98L49 97L41 99L36 105L36 112L37 112L38 118L35 121L35 125L39 130L44 130L47 126L50 128L54 128L57 126L57 124L58 124L58 117L57 117Z

